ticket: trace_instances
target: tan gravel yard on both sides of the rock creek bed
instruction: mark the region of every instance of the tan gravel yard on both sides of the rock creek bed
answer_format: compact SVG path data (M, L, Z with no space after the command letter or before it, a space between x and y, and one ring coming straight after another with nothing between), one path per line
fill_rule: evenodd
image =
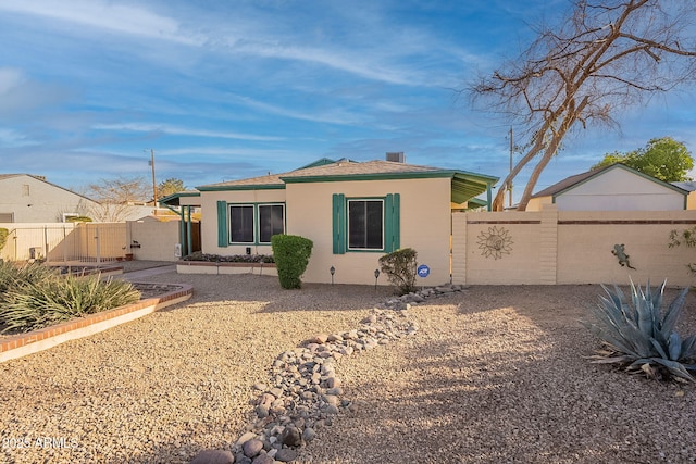
M251 275L150 280L192 284L195 294L0 364L0 461L187 463L228 448L278 353L357 327L388 294L284 291ZM696 387L584 359L598 343L577 319L599 292L472 287L413 308L417 335L340 361L355 407L319 429L298 462L696 462ZM696 331L693 296L681 328Z

